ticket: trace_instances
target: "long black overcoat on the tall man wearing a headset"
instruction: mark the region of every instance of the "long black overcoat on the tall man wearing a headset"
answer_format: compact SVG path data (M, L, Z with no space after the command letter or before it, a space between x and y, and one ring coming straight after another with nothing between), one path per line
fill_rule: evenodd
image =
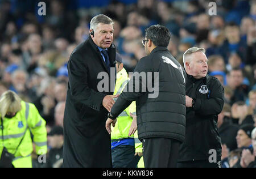
M113 46L108 54L114 67ZM112 167L110 135L105 129L108 110L102 100L113 92L99 92L97 88L102 80L97 76L104 71L108 72L104 59L90 37L72 52L64 113L63 167Z

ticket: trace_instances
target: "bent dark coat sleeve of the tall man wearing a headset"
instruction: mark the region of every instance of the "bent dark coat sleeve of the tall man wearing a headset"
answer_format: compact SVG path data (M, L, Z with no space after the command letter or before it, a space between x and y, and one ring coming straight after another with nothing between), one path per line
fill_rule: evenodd
M68 76L72 99L99 111L106 95L88 87L88 66L77 53L68 62Z

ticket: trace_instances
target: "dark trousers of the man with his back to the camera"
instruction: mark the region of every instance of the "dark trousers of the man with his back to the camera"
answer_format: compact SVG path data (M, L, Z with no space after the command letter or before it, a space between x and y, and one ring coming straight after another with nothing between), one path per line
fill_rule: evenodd
M145 168L176 168L180 141L168 138L143 139Z

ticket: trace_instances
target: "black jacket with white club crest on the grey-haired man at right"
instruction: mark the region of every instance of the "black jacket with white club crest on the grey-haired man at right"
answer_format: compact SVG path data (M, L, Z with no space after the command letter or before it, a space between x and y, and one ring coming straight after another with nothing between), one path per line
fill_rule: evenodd
M224 88L213 76L195 79L188 75L186 95L195 98L196 102L193 108L187 108L185 140L180 146L178 161L208 160L212 149L220 157L217 114L224 105Z

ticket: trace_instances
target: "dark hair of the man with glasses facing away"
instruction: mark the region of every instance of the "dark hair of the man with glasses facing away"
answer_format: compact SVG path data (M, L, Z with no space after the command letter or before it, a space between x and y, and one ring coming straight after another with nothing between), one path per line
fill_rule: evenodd
M146 38L152 40L155 46L167 47L171 39L171 33L163 25L151 25L146 29Z

